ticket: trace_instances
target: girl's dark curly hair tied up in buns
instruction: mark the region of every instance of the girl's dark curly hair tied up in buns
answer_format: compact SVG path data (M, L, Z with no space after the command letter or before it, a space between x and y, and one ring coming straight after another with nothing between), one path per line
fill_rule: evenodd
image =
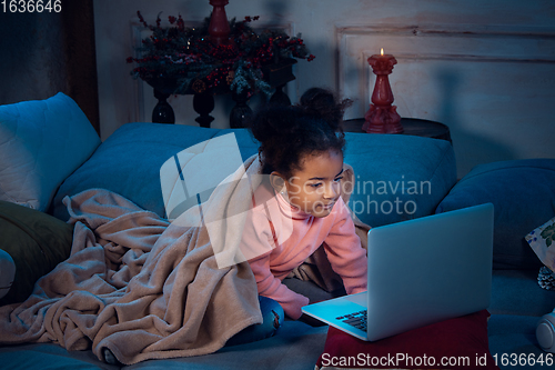
M321 88L309 89L296 106L266 106L252 117L249 128L260 141L265 174L278 171L291 177L309 154L343 152L343 113L351 100L339 101Z

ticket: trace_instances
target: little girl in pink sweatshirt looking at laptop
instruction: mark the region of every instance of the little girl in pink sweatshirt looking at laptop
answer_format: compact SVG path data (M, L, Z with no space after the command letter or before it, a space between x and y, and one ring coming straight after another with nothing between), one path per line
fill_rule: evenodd
M251 212L241 248L262 251L249 260L259 294L292 319L310 301L282 280L322 243L346 292L366 290L366 252L341 198L347 103L313 88L299 106L268 108L250 124L268 180L254 192L255 202L265 202Z

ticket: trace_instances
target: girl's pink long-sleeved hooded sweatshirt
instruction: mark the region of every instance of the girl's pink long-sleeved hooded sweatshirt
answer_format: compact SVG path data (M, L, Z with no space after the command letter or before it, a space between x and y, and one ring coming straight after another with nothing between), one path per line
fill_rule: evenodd
M343 199L323 218L297 210L268 184L256 189L254 199L241 251L254 272L260 296L274 299L289 317L299 319L309 298L290 290L282 280L324 242L327 259L346 292L366 290L366 251Z

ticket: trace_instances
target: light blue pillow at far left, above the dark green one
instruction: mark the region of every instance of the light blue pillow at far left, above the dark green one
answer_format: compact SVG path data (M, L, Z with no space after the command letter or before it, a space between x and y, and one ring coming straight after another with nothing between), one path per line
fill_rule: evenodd
M0 200L44 211L60 186L99 146L68 96L0 107Z

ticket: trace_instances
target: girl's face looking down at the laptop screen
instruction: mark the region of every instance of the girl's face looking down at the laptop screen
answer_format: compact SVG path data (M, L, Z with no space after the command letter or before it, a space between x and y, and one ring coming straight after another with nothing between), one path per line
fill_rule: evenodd
M285 181L289 201L314 217L326 217L341 196L343 153L335 150L309 154L301 160L301 170Z

